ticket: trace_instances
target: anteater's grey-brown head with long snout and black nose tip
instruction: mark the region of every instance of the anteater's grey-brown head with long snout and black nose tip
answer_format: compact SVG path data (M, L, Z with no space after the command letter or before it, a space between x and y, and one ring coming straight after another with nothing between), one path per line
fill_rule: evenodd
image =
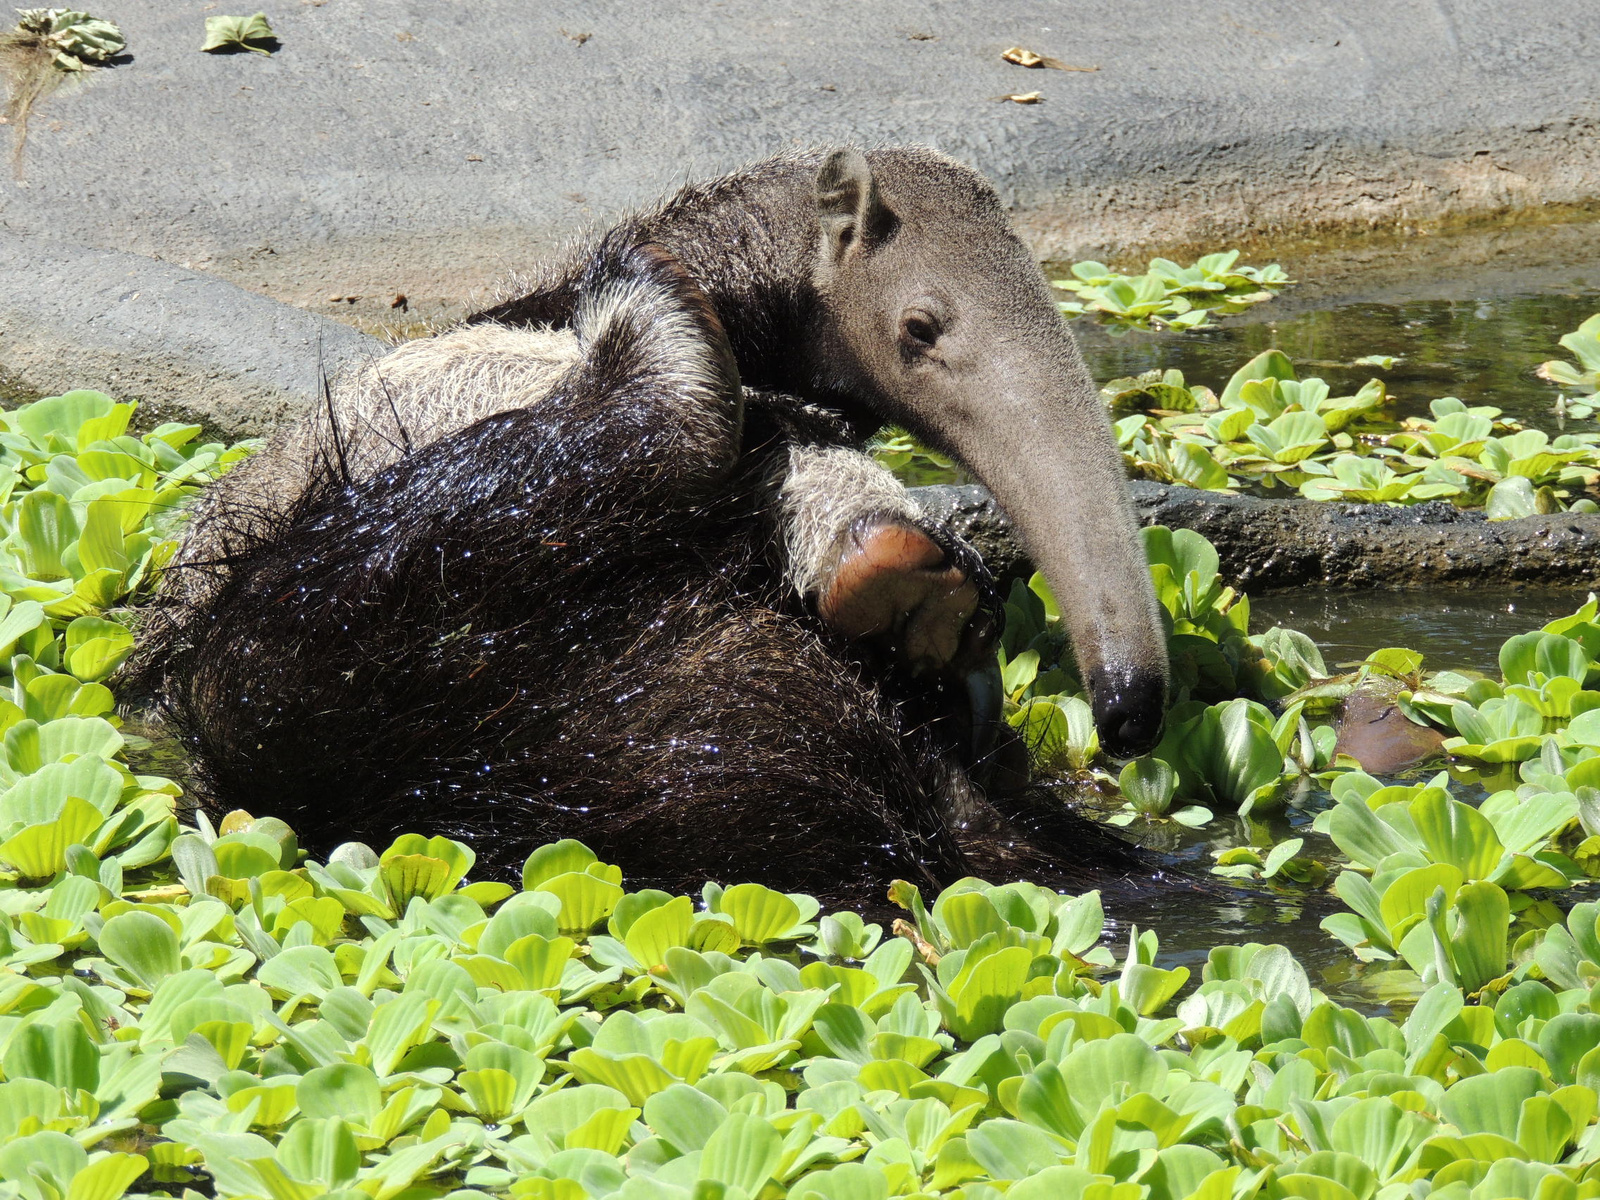
M978 173L931 150L829 154L816 174L822 389L960 459L1054 590L1101 741L1149 749L1166 638L1099 394Z

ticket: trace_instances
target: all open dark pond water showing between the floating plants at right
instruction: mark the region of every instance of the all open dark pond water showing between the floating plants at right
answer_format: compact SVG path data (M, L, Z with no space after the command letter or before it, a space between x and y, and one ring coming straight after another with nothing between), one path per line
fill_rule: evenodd
M1376 240L1283 254L1256 250L1246 251L1245 261L1280 261L1301 282L1210 330L1123 331L1077 318L1072 330L1093 378L1106 382L1178 368L1190 386L1221 392L1245 362L1280 349L1302 378L1322 376L1336 395L1381 376L1397 398L1397 416L1424 416L1430 400L1456 395L1550 434L1595 429L1592 421L1563 424L1555 410L1557 389L1534 370L1547 358L1570 357L1557 339L1600 312L1600 222L1490 229L1416 238L1411 245ZM1114 266L1142 269L1139 262ZM1352 360L1363 355L1392 355L1398 362L1389 370L1355 366ZM1422 651L1429 669L1494 674L1507 637L1565 616L1584 598L1584 592L1573 590L1298 589L1251 595L1251 630L1274 624L1299 629L1317 642L1330 667L1360 661L1382 646L1408 646ZM1438 766L1421 774L1434 770ZM1462 798L1504 786L1470 774L1459 782L1456 794ZM1150 826L1139 840L1170 854L1190 875L1208 872L1213 851L1234 845L1266 848L1285 837L1304 837L1302 854L1333 861L1333 845L1310 830L1315 813L1328 803L1325 792L1306 789L1282 816L1266 822L1218 814L1200 830ZM1326 894L1304 890L1210 894L1152 885L1134 901L1114 906L1112 917L1123 936L1130 923L1158 930L1163 965L1186 965L1195 978L1208 946L1283 942L1330 995L1381 1011L1397 976L1392 966L1357 965L1322 931L1320 920L1339 907Z

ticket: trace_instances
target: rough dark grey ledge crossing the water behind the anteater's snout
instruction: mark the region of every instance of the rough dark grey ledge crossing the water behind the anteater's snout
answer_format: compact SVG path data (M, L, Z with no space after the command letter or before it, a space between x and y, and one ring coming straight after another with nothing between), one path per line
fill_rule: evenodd
M1411 507L1259 499L1134 482L1144 525L1205 534L1222 574L1258 592L1285 587L1600 587L1600 515L1488 522L1434 501ZM1027 570L1011 520L987 490L917 488L922 507L982 554L997 578Z

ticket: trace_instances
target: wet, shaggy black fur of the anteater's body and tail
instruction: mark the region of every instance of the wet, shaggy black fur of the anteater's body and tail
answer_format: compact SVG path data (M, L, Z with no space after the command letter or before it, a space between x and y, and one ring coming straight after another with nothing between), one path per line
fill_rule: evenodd
M613 238L587 280L608 272L674 288L720 339L669 256ZM787 598L765 509L794 402L755 397L722 451L691 445L642 334L371 480L331 446L221 592L157 622L144 683L203 802L323 853L443 832L515 877L576 837L632 886L760 880L869 910L898 877L1147 878L1048 797L984 798L962 702Z

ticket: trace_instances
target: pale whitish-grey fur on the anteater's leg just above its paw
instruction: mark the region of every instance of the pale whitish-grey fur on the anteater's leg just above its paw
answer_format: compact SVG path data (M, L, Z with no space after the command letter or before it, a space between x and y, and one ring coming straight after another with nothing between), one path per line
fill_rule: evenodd
M906 486L850 446L794 445L778 485L779 546L795 592L814 602L862 520L926 523Z

